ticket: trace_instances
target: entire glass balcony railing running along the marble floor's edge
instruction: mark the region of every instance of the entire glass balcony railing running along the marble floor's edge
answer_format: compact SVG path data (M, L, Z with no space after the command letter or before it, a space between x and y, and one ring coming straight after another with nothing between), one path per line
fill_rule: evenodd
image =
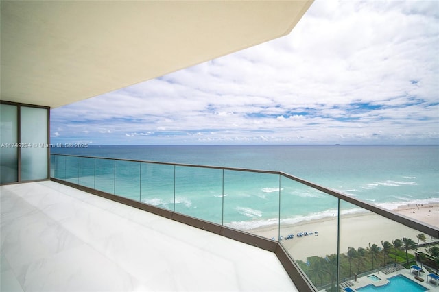
M51 178L276 241L315 291L439 268L438 228L287 173L51 154Z

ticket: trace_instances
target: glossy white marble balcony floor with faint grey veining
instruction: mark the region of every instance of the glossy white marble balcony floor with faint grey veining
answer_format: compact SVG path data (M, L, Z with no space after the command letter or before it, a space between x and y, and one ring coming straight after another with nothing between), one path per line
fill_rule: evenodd
M298 291L245 243L56 182L0 193L0 291Z

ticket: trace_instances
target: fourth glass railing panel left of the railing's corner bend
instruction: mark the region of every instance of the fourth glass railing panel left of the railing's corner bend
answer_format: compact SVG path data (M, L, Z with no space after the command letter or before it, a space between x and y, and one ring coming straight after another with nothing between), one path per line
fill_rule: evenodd
M140 200L140 162L115 161L115 194Z

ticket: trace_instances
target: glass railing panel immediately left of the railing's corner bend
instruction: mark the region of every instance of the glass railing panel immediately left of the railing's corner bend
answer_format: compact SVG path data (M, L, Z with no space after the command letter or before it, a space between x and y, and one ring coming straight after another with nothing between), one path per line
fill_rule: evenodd
M279 175L224 171L224 225L277 238Z

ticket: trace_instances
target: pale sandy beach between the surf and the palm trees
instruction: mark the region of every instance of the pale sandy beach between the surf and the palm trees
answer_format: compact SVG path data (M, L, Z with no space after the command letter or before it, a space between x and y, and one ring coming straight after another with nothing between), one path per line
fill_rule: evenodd
M394 212L423 221L431 226L439 226L439 204L427 204L423 206L400 206ZM348 247L368 247L377 244L381 247L381 241L392 243L395 239L408 237L416 243L416 235L420 232L412 230L399 223L375 214L351 214L342 215L340 223L340 251L348 250ZM255 228L250 231L253 234L268 238L277 237L277 228ZM298 237L299 232L313 232L308 236ZM318 232L317 234L315 232ZM294 234L294 239L285 239L288 234ZM327 217L315 221L302 221L294 225L281 226L283 245L289 250L296 260L306 260L307 256L327 256L337 252L337 219ZM428 241L430 237L427 236Z

